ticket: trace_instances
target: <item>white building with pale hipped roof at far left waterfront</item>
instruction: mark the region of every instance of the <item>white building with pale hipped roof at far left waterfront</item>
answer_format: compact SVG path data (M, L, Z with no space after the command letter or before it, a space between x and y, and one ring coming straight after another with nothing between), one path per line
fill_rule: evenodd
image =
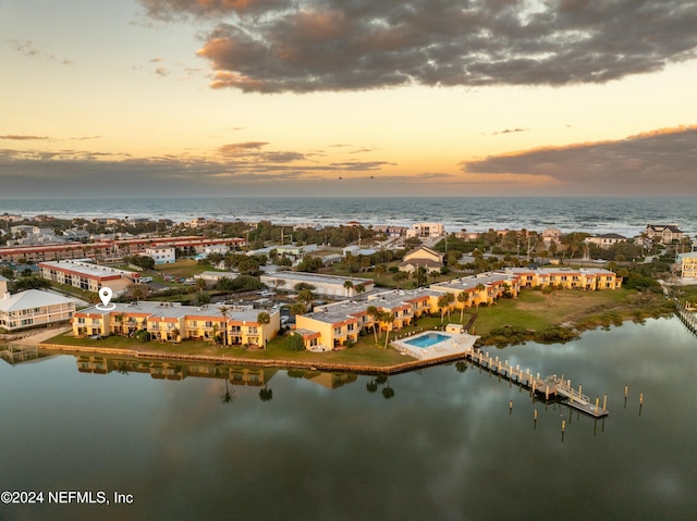
M8 293L8 280L0 276L0 327L7 331L70 320L75 313L75 300L50 291L27 289Z

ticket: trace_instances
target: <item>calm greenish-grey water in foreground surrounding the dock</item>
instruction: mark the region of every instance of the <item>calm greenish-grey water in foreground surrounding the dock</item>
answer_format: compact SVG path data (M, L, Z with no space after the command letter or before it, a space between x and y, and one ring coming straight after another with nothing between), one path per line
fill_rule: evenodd
M365 376L330 389L326 375L278 371L271 400L231 385L224 402L222 380L0 361L0 491L134 496L0 506L0 519L695 519L697 339L677 320L497 353L608 393L610 415L546 408L455 365L375 393Z

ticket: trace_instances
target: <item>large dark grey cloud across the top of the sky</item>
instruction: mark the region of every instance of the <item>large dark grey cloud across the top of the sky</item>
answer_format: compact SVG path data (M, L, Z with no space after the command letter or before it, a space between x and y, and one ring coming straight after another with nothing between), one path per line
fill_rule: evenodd
M217 25L213 88L566 85L696 57L697 0L142 0Z

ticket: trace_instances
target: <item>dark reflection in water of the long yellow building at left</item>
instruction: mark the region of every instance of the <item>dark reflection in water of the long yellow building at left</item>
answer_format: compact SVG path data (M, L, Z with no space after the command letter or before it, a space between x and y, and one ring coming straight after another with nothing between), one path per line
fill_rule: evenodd
M184 380L185 377L205 377L229 380L233 385L266 385L278 369L243 368L215 365L207 363L181 363L179 361L146 361L135 358L107 358L96 355L77 357L77 371L81 373L107 374L112 371L122 373L145 373L158 380Z

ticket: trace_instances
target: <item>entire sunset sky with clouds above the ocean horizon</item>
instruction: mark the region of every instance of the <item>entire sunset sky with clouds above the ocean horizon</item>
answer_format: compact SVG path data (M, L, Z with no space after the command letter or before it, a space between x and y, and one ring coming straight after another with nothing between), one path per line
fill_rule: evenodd
M697 0L0 0L0 199L697 196Z

